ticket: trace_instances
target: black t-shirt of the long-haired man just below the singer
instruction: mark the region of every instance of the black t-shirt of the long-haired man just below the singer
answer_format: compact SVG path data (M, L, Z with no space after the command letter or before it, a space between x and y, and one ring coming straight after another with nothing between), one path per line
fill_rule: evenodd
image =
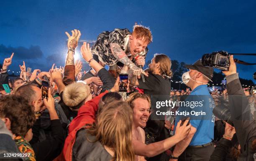
M156 101L165 101L170 99L171 83L168 78L163 78L158 74L149 73L148 77L145 76L145 83L142 79L138 79L139 88L144 90L144 94L151 97L151 114L146 128L144 129L150 138L154 138L152 141L162 141L169 138L169 131L164 128L164 117L157 117L154 115L155 110L164 110L164 108L156 109ZM146 136L146 138L148 138ZM161 153L157 156L147 158L148 161L169 161L169 156L166 153Z

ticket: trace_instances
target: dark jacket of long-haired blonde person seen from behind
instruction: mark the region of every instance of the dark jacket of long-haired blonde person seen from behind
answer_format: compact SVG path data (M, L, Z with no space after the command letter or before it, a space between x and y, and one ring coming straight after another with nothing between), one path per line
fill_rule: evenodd
M93 142L95 138L86 129L79 130L73 146L72 161L110 161L112 156L99 141Z

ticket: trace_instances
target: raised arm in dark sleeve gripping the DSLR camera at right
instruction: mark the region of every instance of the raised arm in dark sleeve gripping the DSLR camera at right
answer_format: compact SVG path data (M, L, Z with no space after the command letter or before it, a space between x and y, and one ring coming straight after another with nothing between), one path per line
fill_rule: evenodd
M256 122L252 120L248 99L239 81L238 73L236 73L233 55L230 56L228 71L223 71L223 74L227 79L231 119L241 145L241 160L252 161L253 154L256 153Z

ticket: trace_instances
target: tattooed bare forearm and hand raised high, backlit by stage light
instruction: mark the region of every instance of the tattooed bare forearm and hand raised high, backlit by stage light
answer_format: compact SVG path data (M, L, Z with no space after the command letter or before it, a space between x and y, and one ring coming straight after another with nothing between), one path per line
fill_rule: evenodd
M66 32L66 35L69 38L67 43L69 51L67 53L65 66L74 65L74 52L78 46L78 41L81 36L81 33L79 30L74 29L74 31L72 30L71 32L72 32L72 36L70 36L69 33Z

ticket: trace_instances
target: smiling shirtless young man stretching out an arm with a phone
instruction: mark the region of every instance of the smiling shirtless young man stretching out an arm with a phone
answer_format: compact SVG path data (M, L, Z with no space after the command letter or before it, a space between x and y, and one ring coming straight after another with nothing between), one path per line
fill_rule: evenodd
M146 145L143 128L146 127L146 122L150 115L150 97L140 93L132 93L125 102L133 109L132 133L136 161L145 161L145 157L157 156L187 137L191 128L190 124L188 126L180 126L180 131L170 138ZM180 123L181 121L179 121L179 125ZM185 123L188 123L188 120Z

